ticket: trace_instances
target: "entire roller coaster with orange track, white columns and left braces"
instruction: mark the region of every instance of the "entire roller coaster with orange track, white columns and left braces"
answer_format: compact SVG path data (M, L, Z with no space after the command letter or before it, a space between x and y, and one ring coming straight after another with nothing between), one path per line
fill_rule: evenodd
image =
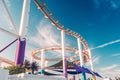
M44 49L36 49L32 52L32 57L36 60L41 61L41 71L44 71L44 62L45 61L60 61L63 60L63 74L64 77L67 78L67 60L74 60L74 58L79 56L79 64L81 67L83 67L84 63L90 62L91 66L91 71L94 71L93 69L93 63L91 59L91 52L88 47L87 42L76 32L64 27L60 23L60 21L53 15L53 13L49 10L47 7L46 3L43 0L34 0L35 4L37 5L38 9L43 12L45 18L47 18L59 31L61 31L61 46L50 46ZM4 51L7 47L12 45L14 42L18 41L18 46L17 46L17 52L16 52L16 59L15 62L12 62L8 59L5 59L3 57L0 57L0 61L5 62L10 65L21 65L24 62L24 55L25 55L25 46L26 46L26 29L28 25L28 20L29 20L29 9L30 9L30 0L24 0L23 3L23 10L22 10L22 16L21 16L21 23L20 23L20 29L19 32L16 29L16 26L12 20L12 17L9 13L9 10L7 8L7 5L4 0L2 0L3 6L6 10L7 16L9 21L11 22L11 26L13 29L16 31L16 34L11 33L3 28L0 28L0 31L7 33L11 36L16 37L14 41L12 41L10 44L8 44L6 47L0 50L0 53ZM73 36L76 38L76 41L78 43L78 49L74 49L71 47L66 47L65 46L65 34L68 34L70 36ZM62 51L62 58L59 59L46 59L45 58L45 52L48 50L61 50ZM66 57L65 55L65 50L70 50L75 53L74 56ZM41 53L41 57L38 57L36 54ZM93 75L94 76L94 75ZM82 73L82 80L86 80L86 75L83 72Z

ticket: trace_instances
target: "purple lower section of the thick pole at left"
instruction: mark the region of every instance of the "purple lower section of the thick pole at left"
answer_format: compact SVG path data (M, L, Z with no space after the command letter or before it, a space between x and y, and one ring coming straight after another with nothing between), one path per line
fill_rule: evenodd
M23 64L24 56L25 56L25 46L26 46L26 40L21 41L19 39L18 46L17 46L17 52L16 52L15 65Z

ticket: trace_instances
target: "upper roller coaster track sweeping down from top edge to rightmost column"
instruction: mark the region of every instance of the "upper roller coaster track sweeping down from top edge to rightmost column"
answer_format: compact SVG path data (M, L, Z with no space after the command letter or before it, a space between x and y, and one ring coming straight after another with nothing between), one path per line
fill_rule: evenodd
M69 34L75 38L79 38L81 43L84 45L85 49L88 49L87 42L76 32L69 30L68 28L65 28L64 25L62 25L59 20L53 15L53 13L50 11L50 9L47 7L46 3L43 0L34 0L36 5L38 6L38 9L43 12L45 15L45 18L49 19L50 22L57 27L58 30L64 30L66 34Z

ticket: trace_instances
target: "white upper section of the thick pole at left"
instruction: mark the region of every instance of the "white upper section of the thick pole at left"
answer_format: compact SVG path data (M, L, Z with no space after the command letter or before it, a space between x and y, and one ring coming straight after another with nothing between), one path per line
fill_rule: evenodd
M19 36L24 39L27 35L27 27L29 20L30 0L24 0L23 11L20 22Z

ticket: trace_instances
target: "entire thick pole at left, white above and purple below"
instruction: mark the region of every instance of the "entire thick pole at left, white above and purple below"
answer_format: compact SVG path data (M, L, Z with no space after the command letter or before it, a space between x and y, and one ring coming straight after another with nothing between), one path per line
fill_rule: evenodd
M18 41L15 65L22 65L24 61L25 46L26 46L25 39L27 35L27 27L29 20L30 1L31 0L23 0L23 9L21 15L19 41Z

